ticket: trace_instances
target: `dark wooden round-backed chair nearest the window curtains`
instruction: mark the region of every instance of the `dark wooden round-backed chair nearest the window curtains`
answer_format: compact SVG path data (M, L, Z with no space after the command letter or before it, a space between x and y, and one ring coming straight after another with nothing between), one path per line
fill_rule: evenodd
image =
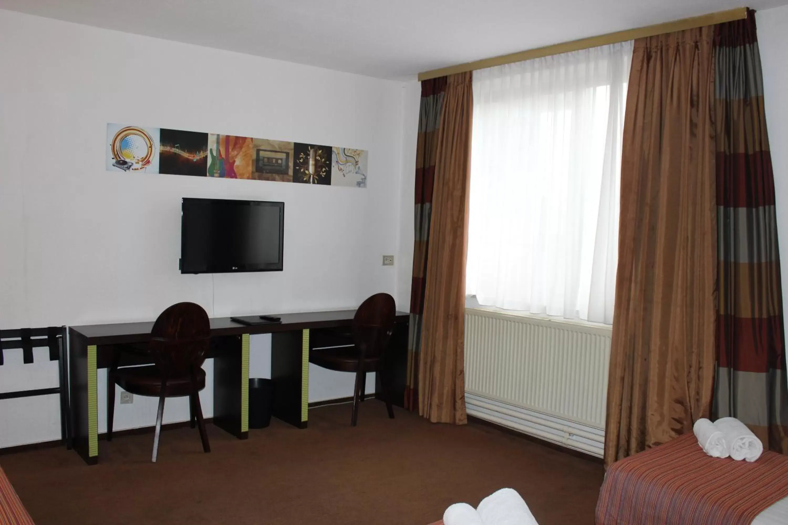
M389 294L374 294L361 303L353 317L353 346L313 349L310 363L337 372L355 372L351 427L359 419L359 402L364 400L366 372L381 374L383 397L388 417L394 419L391 403L391 378L385 367L385 349L394 331L396 305Z

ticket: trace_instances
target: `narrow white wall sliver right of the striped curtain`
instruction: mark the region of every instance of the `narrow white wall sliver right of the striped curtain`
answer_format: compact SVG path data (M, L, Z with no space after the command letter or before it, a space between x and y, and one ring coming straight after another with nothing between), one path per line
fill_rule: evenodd
M771 164L775 172L783 316L788 315L788 6L755 13ZM788 317L786 317L788 326Z

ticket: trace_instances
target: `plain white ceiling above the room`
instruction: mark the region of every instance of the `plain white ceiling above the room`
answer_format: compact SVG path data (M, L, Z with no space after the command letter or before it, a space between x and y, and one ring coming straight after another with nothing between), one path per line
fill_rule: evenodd
M743 5L784 4L788 0L0 0L2 9L385 79Z

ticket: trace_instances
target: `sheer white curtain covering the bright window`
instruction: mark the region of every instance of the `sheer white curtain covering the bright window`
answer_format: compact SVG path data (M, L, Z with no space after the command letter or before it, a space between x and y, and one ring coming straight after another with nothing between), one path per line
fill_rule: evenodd
M466 294L611 324L632 42L474 72Z

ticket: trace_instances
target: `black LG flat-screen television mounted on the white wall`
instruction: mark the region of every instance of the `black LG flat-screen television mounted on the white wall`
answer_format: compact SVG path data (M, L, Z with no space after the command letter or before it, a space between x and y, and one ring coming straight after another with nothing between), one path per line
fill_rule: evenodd
M282 269L284 202L184 198L180 273Z

